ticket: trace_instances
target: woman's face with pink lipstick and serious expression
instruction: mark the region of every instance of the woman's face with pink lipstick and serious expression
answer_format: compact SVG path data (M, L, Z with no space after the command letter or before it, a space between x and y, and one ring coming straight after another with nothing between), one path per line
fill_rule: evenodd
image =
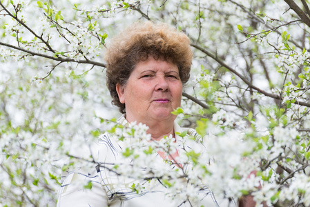
M180 107L182 81L177 65L160 58L137 63L125 86L116 88L129 122L174 121L171 112Z

